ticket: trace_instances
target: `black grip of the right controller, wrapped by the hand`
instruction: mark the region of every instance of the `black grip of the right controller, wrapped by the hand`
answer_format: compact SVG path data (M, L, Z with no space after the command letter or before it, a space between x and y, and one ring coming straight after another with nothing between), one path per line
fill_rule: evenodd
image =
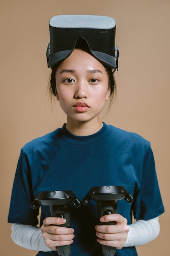
M97 211L99 219L107 214L117 213L117 200L114 201L97 201ZM116 225L115 221L101 222L99 225ZM115 255L116 248L112 246L102 245L102 253L104 256Z

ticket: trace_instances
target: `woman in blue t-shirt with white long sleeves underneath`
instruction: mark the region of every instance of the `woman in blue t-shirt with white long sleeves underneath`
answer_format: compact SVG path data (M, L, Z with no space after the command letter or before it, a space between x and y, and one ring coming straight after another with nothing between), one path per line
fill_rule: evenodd
M72 255L101 255L100 244L121 249L116 255L137 255L134 246L157 237L158 216L164 212L150 143L101 122L99 114L114 96L115 82L111 68L92 56L83 40L55 65L50 82L67 124L21 150L8 216L15 223L13 240L39 250L38 256L56 255L57 246L73 239ZM100 219L116 225L97 225L96 202L90 202L71 208L71 228L56 226L65 219L49 217L49 207L42 206L36 227L38 211L30 204L40 191L72 190L82 200L91 187L105 185L124 186L134 197L132 205L121 200L118 214Z

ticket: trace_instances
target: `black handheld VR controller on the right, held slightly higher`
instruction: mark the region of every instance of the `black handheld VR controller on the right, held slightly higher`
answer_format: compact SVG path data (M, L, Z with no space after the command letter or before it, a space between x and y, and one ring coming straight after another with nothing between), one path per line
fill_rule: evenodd
M97 201L98 218L100 219L104 215L117 213L117 201L123 198L128 203L132 203L134 200L122 186L100 186L92 187L82 202L87 205L91 199ZM116 225L116 222L99 221L99 225ZM102 245L104 256L113 256L115 252L115 247Z

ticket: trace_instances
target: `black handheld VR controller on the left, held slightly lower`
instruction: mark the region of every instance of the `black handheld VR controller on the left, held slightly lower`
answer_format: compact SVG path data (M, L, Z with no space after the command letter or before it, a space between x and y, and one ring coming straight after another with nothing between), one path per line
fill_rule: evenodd
M80 206L79 199L71 190L66 191L43 191L38 194L32 202L31 207L38 209L41 204L49 205L52 217L65 218L66 223L61 227L70 227L70 204L73 202L75 207ZM69 256L71 253L71 245L57 246L59 256Z

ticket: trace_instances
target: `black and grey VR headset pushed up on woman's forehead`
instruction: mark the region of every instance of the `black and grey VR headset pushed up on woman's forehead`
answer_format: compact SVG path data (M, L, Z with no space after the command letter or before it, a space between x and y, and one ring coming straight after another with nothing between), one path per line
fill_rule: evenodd
M81 39L86 42L92 56L113 72L118 70L115 19L96 15L58 15L50 19L49 28L47 63L51 69L65 60Z

